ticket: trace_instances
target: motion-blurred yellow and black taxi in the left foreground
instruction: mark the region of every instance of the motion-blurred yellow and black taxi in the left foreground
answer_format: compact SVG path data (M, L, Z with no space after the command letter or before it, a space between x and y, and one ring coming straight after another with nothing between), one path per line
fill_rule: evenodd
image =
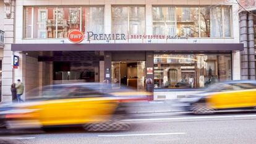
M129 124L120 121L127 116L129 103L147 98L145 93L127 96L129 91L138 93L101 83L49 85L30 91L25 103L12 104L0 114L7 129L83 125L89 131L127 130Z

